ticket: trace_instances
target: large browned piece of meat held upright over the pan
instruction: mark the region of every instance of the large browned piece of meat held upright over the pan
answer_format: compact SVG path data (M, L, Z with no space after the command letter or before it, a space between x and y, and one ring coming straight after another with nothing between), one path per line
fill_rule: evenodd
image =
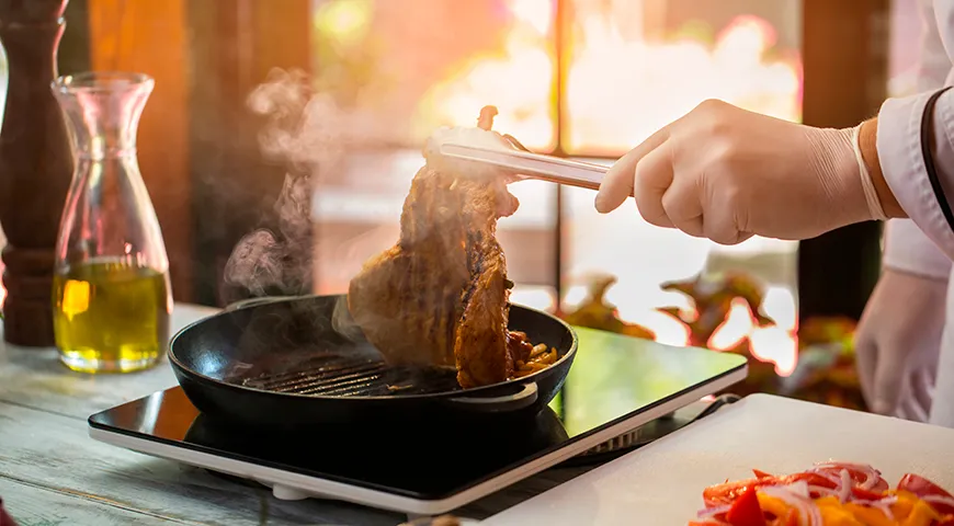
M526 351L508 344L510 282L496 238L514 202L498 180L445 172L417 173L400 239L351 281L349 310L388 363L456 366L464 388L496 384Z

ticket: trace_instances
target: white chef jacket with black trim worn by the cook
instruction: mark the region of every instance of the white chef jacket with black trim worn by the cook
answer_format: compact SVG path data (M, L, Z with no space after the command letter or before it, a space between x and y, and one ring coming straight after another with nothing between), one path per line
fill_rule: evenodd
M885 267L947 279L946 325L941 340L930 422L954 427L954 229L944 218L921 153L921 119L928 99L954 85L954 0L921 0L925 31L918 71L920 94L889 99L878 113L878 161L910 219L891 219L885 233ZM954 206L954 89L933 110L934 168ZM939 306L945 308L945 306Z

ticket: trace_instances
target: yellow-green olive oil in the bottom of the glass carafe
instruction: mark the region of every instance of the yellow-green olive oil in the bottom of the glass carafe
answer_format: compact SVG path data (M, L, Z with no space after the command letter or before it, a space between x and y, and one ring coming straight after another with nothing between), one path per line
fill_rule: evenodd
M127 261L93 261L54 276L56 345L69 368L125 373L154 365L166 352L168 277Z

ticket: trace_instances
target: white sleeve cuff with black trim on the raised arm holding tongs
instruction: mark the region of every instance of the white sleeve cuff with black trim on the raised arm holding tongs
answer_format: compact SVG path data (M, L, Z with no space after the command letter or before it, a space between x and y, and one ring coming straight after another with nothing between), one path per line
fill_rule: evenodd
M947 225L928 180L921 157L921 116L932 93L888 99L878 113L878 162L898 204L908 217L947 259L954 259L954 231ZM934 165L941 185L954 197L954 91L947 91L934 107Z

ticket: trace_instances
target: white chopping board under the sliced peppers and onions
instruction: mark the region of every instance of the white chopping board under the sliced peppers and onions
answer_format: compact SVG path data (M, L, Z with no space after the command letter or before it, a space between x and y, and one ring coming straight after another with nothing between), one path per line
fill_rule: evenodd
M954 430L753 395L481 524L685 526L707 485L824 460L870 464L891 487L915 472L954 491Z

